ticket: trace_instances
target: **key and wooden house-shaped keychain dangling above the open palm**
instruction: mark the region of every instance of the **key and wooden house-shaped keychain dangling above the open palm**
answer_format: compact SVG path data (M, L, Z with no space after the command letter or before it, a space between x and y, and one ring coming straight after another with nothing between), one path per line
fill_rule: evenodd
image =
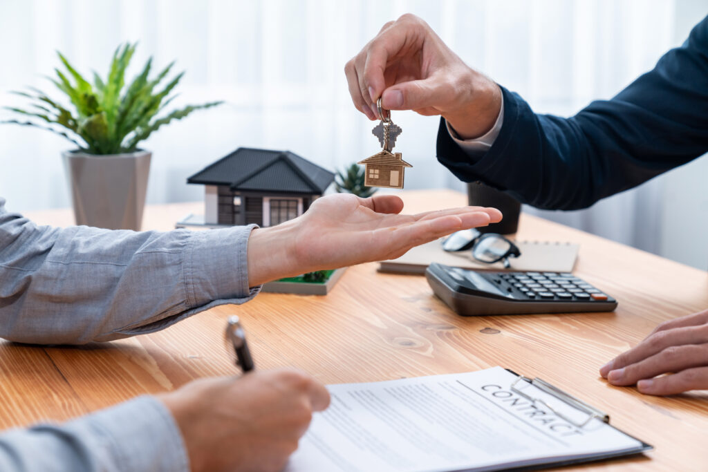
M359 161L366 166L364 185L367 187L403 188L403 173L406 167L413 167L401 159L401 153L391 151L396 144L396 137L402 130L391 121L391 111L381 107L381 98L376 100L379 109L379 122L372 133L379 138L381 151L373 156Z

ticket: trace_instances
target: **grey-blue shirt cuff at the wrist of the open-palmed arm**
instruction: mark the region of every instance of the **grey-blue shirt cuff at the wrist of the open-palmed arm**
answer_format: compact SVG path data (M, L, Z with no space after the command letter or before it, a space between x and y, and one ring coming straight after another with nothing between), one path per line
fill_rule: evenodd
M253 228L255 224L195 232L184 265L190 308L243 303L258 293L260 287L249 287L248 244Z

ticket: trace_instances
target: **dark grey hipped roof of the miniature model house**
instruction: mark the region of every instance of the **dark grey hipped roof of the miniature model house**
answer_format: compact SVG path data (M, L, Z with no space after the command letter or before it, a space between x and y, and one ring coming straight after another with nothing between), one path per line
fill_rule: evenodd
M334 174L290 151L239 147L187 179L231 190L321 194Z

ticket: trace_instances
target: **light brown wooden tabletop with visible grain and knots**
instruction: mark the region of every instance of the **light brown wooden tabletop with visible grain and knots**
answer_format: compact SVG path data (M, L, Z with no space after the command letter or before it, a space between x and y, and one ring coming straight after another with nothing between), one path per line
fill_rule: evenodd
M447 190L399 195L405 212L464 205ZM148 207L146 229L171 229L201 204ZM28 215L72 224L69 210ZM326 383L467 372L501 365L540 376L610 413L612 424L653 444L645 457L586 467L704 470L708 395L643 396L608 385L598 368L657 323L708 307L708 275L566 226L523 214L518 237L580 243L576 275L619 300L614 313L462 318L424 277L350 269L326 297L261 294L219 306L160 333L84 347L0 344L0 427L65 420L202 376L232 375L224 323L238 313L258 367L295 365Z

